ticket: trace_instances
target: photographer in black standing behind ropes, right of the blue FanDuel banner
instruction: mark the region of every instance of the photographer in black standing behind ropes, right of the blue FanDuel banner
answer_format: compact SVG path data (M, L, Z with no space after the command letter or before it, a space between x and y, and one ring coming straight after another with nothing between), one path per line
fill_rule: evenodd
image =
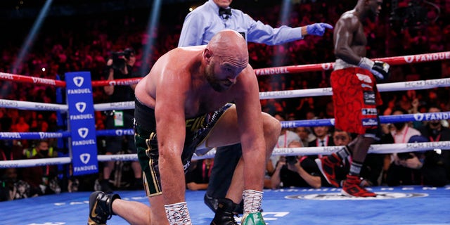
M134 78L133 67L136 63L135 51L133 49L125 49L122 52L113 53L112 58L109 58L106 63L105 77L108 80ZM104 86L105 94L109 96L110 103L134 101L134 87L136 84L129 86ZM105 111L105 129L132 129L134 110L112 110ZM136 153L136 146L134 145L134 136L106 136L105 137L105 151L106 155L113 155L117 153ZM117 167L115 167L117 165ZM132 161L131 169L129 169L129 162L105 162L103 166L103 179L100 181L101 191L113 191L110 188L110 176L113 170L114 184L116 187L134 186L134 188L142 187L141 166L139 162ZM133 177L122 176L122 172L133 172ZM131 175L130 175L131 176Z

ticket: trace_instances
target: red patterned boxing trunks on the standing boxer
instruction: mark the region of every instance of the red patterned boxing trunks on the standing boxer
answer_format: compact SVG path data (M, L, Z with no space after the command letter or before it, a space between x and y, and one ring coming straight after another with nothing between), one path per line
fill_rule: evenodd
M344 68L330 77L335 108L335 127L350 133L366 134L377 129L376 107L382 105L376 80L369 70Z

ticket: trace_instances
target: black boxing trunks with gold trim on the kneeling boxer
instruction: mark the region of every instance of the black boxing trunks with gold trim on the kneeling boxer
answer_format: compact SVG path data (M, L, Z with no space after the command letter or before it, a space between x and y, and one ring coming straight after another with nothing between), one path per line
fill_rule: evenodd
M134 101L134 142L136 144L139 164L143 171L144 185L147 196L160 195L161 179L158 165L158 139L156 134L155 110ZM221 115L231 107L227 103L213 113L207 113L186 119L186 139L184 140L181 162L184 172L187 171L195 149L202 145Z

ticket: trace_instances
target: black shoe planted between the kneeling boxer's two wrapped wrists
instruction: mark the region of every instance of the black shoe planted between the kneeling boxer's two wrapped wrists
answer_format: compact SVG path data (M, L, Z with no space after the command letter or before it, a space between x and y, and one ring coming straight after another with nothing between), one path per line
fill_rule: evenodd
M238 225L234 216L236 204L228 198L220 198L217 202L217 210L210 225Z

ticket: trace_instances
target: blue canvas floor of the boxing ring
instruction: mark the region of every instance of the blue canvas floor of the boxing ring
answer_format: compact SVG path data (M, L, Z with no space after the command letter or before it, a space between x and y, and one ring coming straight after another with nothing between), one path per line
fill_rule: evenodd
M376 198L349 198L340 188L264 190L263 217L268 225L297 224L450 224L450 186L374 187ZM118 191L124 199L148 204L143 191ZM88 192L61 193L0 203L0 224L86 224ZM205 191L186 191L195 225L210 224L213 212ZM240 221L240 218L236 218ZM108 224L128 224L113 216Z

